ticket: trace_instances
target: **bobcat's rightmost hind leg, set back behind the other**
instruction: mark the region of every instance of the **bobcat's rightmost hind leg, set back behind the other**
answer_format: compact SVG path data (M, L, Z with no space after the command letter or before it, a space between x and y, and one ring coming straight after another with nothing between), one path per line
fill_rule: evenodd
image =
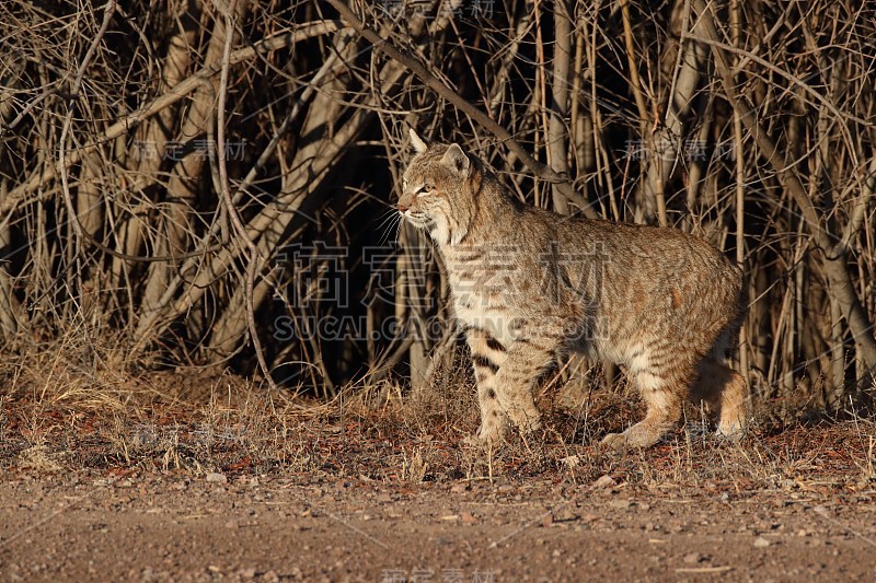
M718 435L738 439L746 424L746 381L724 363L723 358L710 354L698 366L691 400L704 400L718 416Z

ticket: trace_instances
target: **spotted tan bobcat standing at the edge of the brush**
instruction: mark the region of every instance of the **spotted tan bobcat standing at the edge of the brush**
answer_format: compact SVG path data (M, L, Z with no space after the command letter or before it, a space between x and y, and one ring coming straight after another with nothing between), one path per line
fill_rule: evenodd
M427 145L413 129L411 140L397 210L446 265L482 444L502 441L508 420L540 427L534 386L568 351L624 365L647 404L644 420L603 439L612 448L659 441L684 398L717 411L719 434L739 435L746 384L726 360L744 314L739 268L681 231L525 205L460 145Z

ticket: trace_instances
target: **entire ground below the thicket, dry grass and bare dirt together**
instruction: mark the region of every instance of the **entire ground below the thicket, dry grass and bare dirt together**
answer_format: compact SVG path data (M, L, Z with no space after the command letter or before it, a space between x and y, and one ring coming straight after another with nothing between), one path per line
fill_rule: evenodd
M618 396L491 455L471 407L195 384L0 395L0 581L876 579L873 420L619 455L593 445L638 415Z

